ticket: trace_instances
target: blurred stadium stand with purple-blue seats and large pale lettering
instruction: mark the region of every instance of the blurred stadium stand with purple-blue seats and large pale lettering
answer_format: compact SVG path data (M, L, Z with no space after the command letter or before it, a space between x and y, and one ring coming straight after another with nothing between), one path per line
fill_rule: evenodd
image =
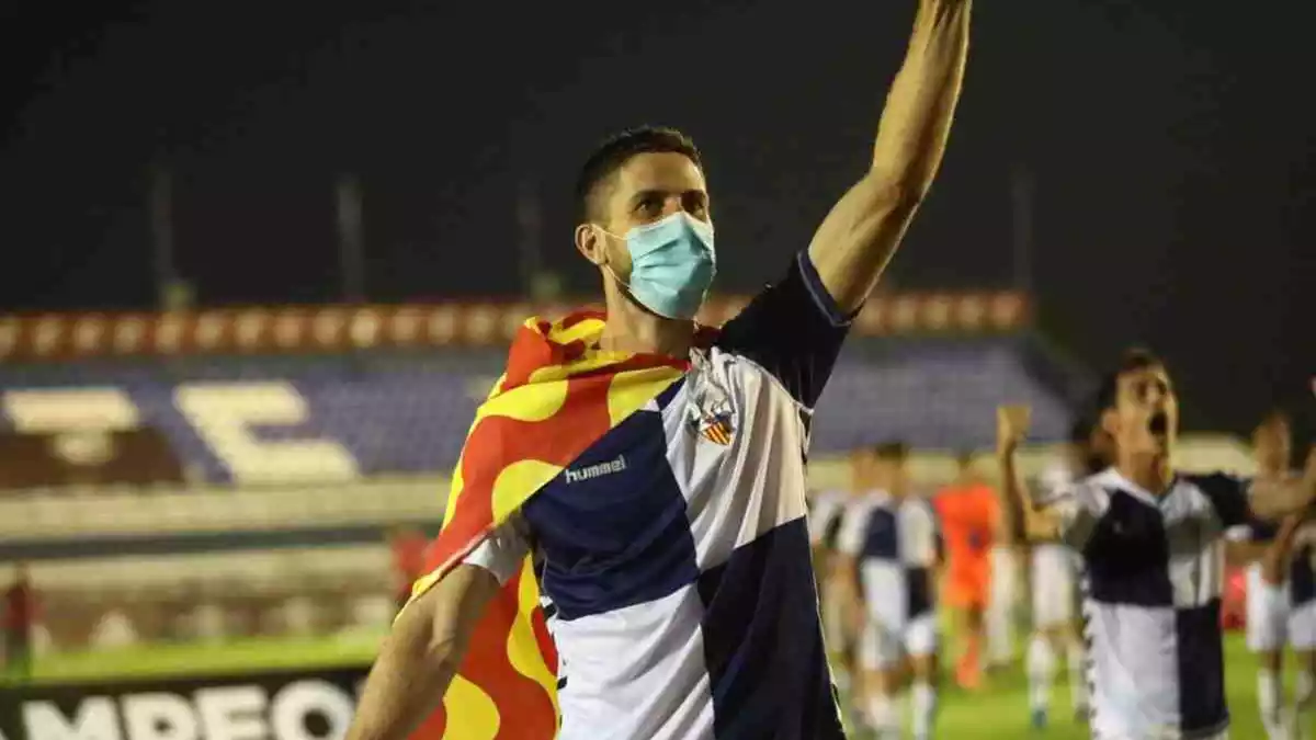
M742 303L715 302L709 320ZM386 533L437 525L530 312L0 317L0 560L33 561L58 649L382 627ZM870 303L812 454L891 437L986 448L1005 398L1059 440L1082 378L1026 319L1008 294Z

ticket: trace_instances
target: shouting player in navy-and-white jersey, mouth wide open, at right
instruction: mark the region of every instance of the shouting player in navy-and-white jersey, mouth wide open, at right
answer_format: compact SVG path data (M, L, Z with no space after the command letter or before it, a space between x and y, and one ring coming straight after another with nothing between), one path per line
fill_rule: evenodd
M1179 406L1165 363L1130 350L1101 384L1113 465L1036 502L1083 558L1083 616L1100 740L1228 737L1220 594L1224 533L1316 499L1300 481L1177 473Z

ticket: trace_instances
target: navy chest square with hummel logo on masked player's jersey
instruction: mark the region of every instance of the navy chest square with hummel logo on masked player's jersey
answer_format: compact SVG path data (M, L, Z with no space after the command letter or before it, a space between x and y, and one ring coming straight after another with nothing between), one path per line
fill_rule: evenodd
M678 382L658 398L665 407ZM521 515L562 620L666 596L699 577L661 413L640 411L590 446Z

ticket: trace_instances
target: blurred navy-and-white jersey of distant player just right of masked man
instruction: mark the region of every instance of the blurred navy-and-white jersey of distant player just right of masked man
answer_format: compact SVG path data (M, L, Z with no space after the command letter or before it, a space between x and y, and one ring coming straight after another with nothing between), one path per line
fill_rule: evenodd
M937 515L925 499L873 491L845 512L837 549L858 561L869 612L900 628L933 608Z

